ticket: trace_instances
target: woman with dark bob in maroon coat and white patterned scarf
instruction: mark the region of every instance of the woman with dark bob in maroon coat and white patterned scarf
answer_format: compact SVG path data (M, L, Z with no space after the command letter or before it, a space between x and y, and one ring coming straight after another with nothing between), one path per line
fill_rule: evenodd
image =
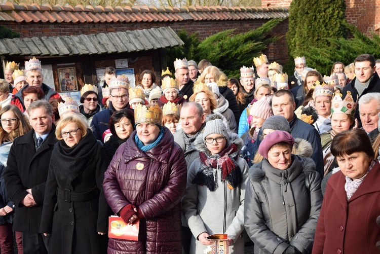
M377 253L380 164L362 129L338 133L331 143L340 171L327 182L313 253Z

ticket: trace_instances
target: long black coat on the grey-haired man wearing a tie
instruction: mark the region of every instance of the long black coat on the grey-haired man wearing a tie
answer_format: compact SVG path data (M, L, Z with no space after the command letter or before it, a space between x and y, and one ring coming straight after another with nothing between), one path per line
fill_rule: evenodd
M11 200L16 204L13 230L18 232L40 232L42 205L45 197L46 179L48 178L50 157L57 142L55 126L49 136L35 151L34 130L13 141L4 172L5 187ZM37 205L26 207L21 200L30 189Z

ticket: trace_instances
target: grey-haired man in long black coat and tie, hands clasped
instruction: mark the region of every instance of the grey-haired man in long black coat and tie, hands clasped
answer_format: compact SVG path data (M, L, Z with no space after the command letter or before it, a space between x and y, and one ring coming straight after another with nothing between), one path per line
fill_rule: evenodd
M24 253L48 253L49 236L39 233L46 179L55 136L52 106L46 100L28 107L32 126L14 140L4 172L5 186L16 204L13 230L22 232Z

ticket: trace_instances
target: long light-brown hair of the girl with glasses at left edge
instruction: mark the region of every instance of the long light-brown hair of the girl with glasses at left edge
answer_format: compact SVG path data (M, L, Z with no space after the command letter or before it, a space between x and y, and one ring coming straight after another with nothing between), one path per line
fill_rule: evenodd
M18 119L16 128L11 132L8 133L3 129L3 125L0 124L0 143L3 143L4 141L11 141L16 137L24 135L26 132L28 132L31 128L29 124L26 122L24 116L22 115L19 108L15 105L6 105L0 110L0 118L2 115L8 111L12 111L16 118Z

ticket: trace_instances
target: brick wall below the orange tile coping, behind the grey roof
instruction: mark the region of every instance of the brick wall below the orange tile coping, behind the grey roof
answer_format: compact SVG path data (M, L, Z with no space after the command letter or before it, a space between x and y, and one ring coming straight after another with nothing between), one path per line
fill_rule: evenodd
M149 29L161 26L170 26L175 32L182 28L188 32L198 32L199 38L204 40L217 32L236 28L236 33L256 29L267 22L267 20L225 20L225 21L180 21L180 22L139 22L139 23L26 23L26 22L2 22L14 31L21 33L21 37L43 37L57 35L78 35L100 32L117 32L125 30ZM270 45L267 52L269 61L285 64L288 60L285 33L288 30L288 21L280 23L272 31L272 35L280 35L279 41Z

